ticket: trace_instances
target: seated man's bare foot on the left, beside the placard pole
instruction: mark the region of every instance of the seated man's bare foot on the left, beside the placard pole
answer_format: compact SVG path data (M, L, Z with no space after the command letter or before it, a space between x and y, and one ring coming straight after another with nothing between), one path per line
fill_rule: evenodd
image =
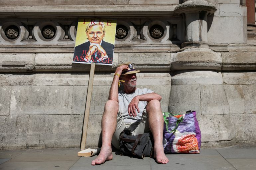
M97 156L96 159L94 159L91 162L91 165L99 165L99 164L104 163L105 161L112 160L112 158L113 158L113 155L112 155L111 147L110 148L109 147L105 147L105 148L102 147L99 155Z

